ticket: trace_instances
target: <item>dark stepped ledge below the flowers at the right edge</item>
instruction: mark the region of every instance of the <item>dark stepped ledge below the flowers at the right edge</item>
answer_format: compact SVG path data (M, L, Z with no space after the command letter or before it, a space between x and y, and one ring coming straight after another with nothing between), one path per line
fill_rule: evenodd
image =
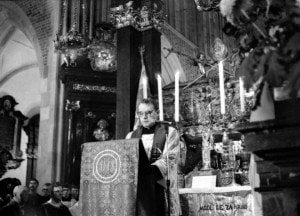
M256 155L263 215L300 215L299 110L299 99L276 102L275 120L239 128Z

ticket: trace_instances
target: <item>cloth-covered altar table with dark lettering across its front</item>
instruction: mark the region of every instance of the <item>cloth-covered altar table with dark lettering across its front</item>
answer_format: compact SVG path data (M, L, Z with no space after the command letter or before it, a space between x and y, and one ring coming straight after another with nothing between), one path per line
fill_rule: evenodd
M183 216L252 216L253 197L250 186L181 188Z

